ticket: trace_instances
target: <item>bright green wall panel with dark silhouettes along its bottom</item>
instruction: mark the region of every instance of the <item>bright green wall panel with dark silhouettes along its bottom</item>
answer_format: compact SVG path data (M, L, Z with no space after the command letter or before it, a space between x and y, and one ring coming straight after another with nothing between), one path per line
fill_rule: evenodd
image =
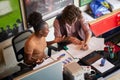
M20 0L0 0L0 42L24 30Z

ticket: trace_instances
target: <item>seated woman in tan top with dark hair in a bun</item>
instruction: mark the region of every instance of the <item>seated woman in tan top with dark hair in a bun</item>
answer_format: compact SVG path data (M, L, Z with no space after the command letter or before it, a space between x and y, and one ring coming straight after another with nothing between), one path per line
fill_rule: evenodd
M44 50L47 46L45 37L48 35L48 24L42 20L40 13L33 12L28 18L28 22L34 28L34 33L27 39L24 52L26 64L40 64L46 58Z

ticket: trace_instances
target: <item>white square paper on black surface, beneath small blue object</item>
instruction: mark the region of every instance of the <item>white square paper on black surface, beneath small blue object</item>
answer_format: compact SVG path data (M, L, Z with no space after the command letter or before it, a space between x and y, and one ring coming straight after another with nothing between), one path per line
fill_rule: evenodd
M104 73L105 71L113 68L115 65L113 65L112 63L110 63L108 60L105 61L104 66L100 66L101 64L101 59L97 60L96 62L94 62L92 64L93 67L95 67L98 71L100 71L101 73Z

